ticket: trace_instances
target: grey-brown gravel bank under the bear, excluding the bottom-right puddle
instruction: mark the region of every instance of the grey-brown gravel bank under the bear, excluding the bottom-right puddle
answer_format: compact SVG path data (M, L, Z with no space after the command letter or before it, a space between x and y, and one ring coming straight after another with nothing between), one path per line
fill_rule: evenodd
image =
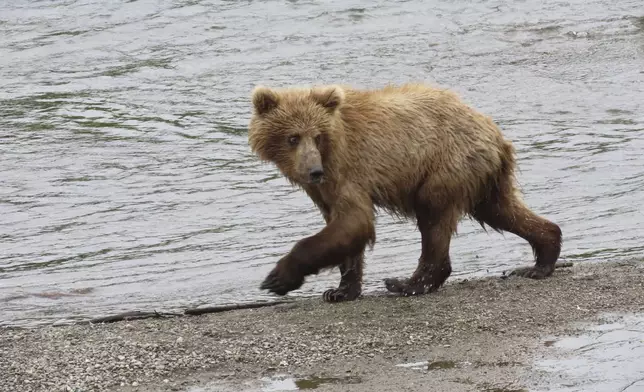
M0 390L528 391L556 377L532 366L553 336L644 312L643 273L643 261L577 263L544 281L452 280L416 298L5 328Z

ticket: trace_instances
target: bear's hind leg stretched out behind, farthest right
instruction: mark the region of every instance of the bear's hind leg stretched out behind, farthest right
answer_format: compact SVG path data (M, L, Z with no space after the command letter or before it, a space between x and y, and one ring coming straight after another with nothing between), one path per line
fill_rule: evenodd
M517 268L510 275L531 279L546 278L554 272L561 252L561 229L557 224L532 212L515 196L513 187L507 184L501 183L492 198L474 209L473 216L479 223L485 223L496 231L508 231L523 238L532 247L535 265Z

